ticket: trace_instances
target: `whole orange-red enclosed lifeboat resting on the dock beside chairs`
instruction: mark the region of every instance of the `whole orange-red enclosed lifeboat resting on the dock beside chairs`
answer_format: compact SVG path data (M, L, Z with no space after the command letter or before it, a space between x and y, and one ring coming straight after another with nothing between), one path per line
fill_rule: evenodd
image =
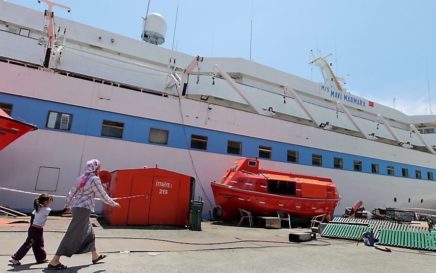
M259 169L259 160L253 158L237 159L211 187L216 219L239 219L239 209L253 216L284 211L298 217L327 214L331 218L341 200L329 178Z

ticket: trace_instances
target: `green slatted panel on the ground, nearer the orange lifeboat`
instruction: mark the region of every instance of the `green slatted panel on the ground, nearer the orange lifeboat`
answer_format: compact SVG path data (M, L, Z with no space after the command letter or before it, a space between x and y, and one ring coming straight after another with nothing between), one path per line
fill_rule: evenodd
M347 224L334 224L328 223L324 228L321 237L346 239L346 240L359 240L365 232L371 232L372 228L368 225L347 225Z

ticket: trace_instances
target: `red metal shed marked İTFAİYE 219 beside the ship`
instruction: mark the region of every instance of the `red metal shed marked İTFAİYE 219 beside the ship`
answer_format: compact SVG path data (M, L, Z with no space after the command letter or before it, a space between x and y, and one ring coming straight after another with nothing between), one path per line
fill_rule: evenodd
M115 170L107 185L112 198L145 195L118 199L118 209L104 204L103 218L109 225L187 224L195 189L193 177L157 167Z

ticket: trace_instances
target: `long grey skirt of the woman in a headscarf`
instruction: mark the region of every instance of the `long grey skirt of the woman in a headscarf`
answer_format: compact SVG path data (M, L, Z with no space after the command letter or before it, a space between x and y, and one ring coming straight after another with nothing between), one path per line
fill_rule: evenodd
M95 233L86 208L72 208L73 219L64 238L57 247L56 255L71 257L74 254L95 251Z

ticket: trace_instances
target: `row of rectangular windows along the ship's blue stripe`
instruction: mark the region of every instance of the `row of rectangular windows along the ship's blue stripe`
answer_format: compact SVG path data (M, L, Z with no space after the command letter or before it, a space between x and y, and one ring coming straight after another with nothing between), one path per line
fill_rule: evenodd
M12 112L12 104L0 103L0 109L10 115ZM46 127L59 130L70 130L73 121L73 115L68 113L49 111L47 116ZM102 123L102 136L123 138L124 123L118 121L108 121L104 120ZM156 144L168 144L168 134L169 131L159 128L150 128L149 143ZM198 150L207 150L208 137L202 135L191 135L191 148ZM227 153L230 154L242 154L242 142L228 140L227 141ZM259 157L271 159L273 153L273 148L268 146L259 146ZM299 163L299 152L298 151L287 151L287 161L293 163ZM323 166L323 155L322 154L312 154L312 165L313 166ZM333 157L333 167L336 169L343 169L343 158ZM362 161L353 161L354 171L362 171ZM388 175L395 175L395 170L393 166L387 166L386 171ZM379 174L379 164L371 164L371 172L374 174ZM402 168L402 176L409 177L409 169ZM421 171L415 170L415 178L421 179ZM433 172L427 172L427 179L433 180Z

